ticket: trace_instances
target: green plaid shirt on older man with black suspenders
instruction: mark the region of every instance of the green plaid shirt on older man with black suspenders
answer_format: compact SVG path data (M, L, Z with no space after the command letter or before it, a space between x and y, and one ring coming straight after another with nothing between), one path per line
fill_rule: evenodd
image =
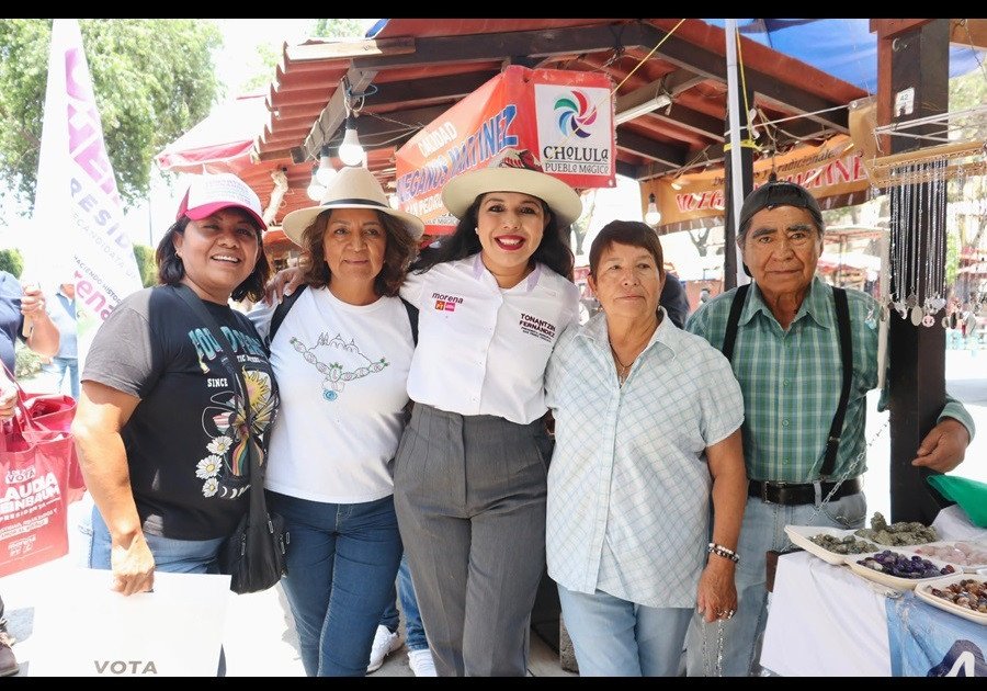
M723 348L734 293L717 295L695 311L685 329ZM866 394L877 386L877 302L848 290L853 378L835 477L866 469ZM819 478L826 439L842 388L840 335L832 288L818 276L785 331L751 285L734 344L734 374L744 393L744 457L751 479L808 483ZM882 401L884 397L882 396ZM883 409L883 404L881 406ZM940 419L960 420L974 434L973 419L949 399ZM860 461L858 461L858 456ZM848 473L849 471L849 473Z

